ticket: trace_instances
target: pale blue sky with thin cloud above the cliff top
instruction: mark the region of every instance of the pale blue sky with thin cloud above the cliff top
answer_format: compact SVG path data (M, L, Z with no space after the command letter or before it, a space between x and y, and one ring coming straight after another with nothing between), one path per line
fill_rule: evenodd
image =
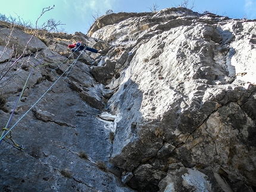
M68 34L86 34L95 17L105 15L108 10L118 12L151 12L179 7L188 1L188 7L195 12L209 11L229 18L256 19L256 0L0 0L0 14L6 17L22 18L35 25L43 8L53 7L38 20L42 26L49 19L60 21L58 30Z

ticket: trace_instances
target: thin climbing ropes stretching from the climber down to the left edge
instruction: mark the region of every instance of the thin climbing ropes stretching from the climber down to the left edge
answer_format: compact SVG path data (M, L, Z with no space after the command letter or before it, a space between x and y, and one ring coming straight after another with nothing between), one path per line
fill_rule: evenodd
M81 51L80 55L82 55L82 53L84 52L84 50L85 50L85 49L83 49L83 50ZM73 55L73 53L71 53L70 56L71 56L71 55ZM49 90L51 90L51 88L57 83L58 80L60 80L61 77L63 77L63 75L64 75L68 70L69 70L68 73L70 73L70 71L71 71L72 68L74 67L74 64L76 64L77 60L79 59L80 55L77 56L77 58L72 62L72 64L67 68L67 70L65 70L64 73L61 74L60 77L58 77L58 79L52 84L52 86L49 87L49 89L46 90L45 93L43 93L43 95L29 108L29 110L28 110L20 119L18 119L17 122L15 122L15 124L13 125L13 127L11 127L11 128L9 129L8 127L9 127L9 125L10 125L11 118L13 117L15 108L17 107L18 102L19 102L20 99L21 99L21 96L22 96L22 94L23 94L23 92L24 92L24 89L26 88L27 81L29 80L29 77L30 77L30 75L32 74L32 70L33 70L33 69L30 71L30 74L29 74L29 76L27 77L26 83L24 84L23 90L21 90L20 96L18 97L18 99L17 99L17 101L16 101L16 103L15 103L15 106L14 106L13 112L12 112L12 114L11 114L11 117L9 118L9 120L8 120L7 125L5 126L5 128L3 128L3 132L2 132L2 135L1 135L1 137L0 137L0 144L1 144L1 142L2 142L2 139L4 139L4 137L7 137L8 139L11 139L11 141L13 141L13 143L15 144L15 146L19 147L20 149L24 149L24 147L23 147L22 145L19 146L19 145L18 145L17 143L15 143L15 141L12 139L11 130L15 127L15 125L18 124L18 122L21 121L21 119L23 119L23 118L27 115L27 113L39 102L39 100L42 99L42 97L45 96L45 94L46 94L47 92L49 92ZM70 58L70 56L68 56L68 58ZM68 59L68 58L67 58L67 59ZM65 61L67 61L67 59L65 59ZM62 63L64 63L65 61L63 61ZM40 63L40 62L39 62L39 63ZM59 66L60 66L60 65L59 65ZM35 67L34 67L34 68L35 68ZM8 133L10 133L10 137L7 136Z

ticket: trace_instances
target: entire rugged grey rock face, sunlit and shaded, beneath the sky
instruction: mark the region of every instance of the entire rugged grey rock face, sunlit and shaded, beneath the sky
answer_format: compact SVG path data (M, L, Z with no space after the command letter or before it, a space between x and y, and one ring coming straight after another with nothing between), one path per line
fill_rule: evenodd
M11 68L0 30L2 127L32 70L11 121L25 149L2 140L2 190L255 190L255 21L186 8L110 14L89 36L34 37ZM71 59L79 39L102 55Z

